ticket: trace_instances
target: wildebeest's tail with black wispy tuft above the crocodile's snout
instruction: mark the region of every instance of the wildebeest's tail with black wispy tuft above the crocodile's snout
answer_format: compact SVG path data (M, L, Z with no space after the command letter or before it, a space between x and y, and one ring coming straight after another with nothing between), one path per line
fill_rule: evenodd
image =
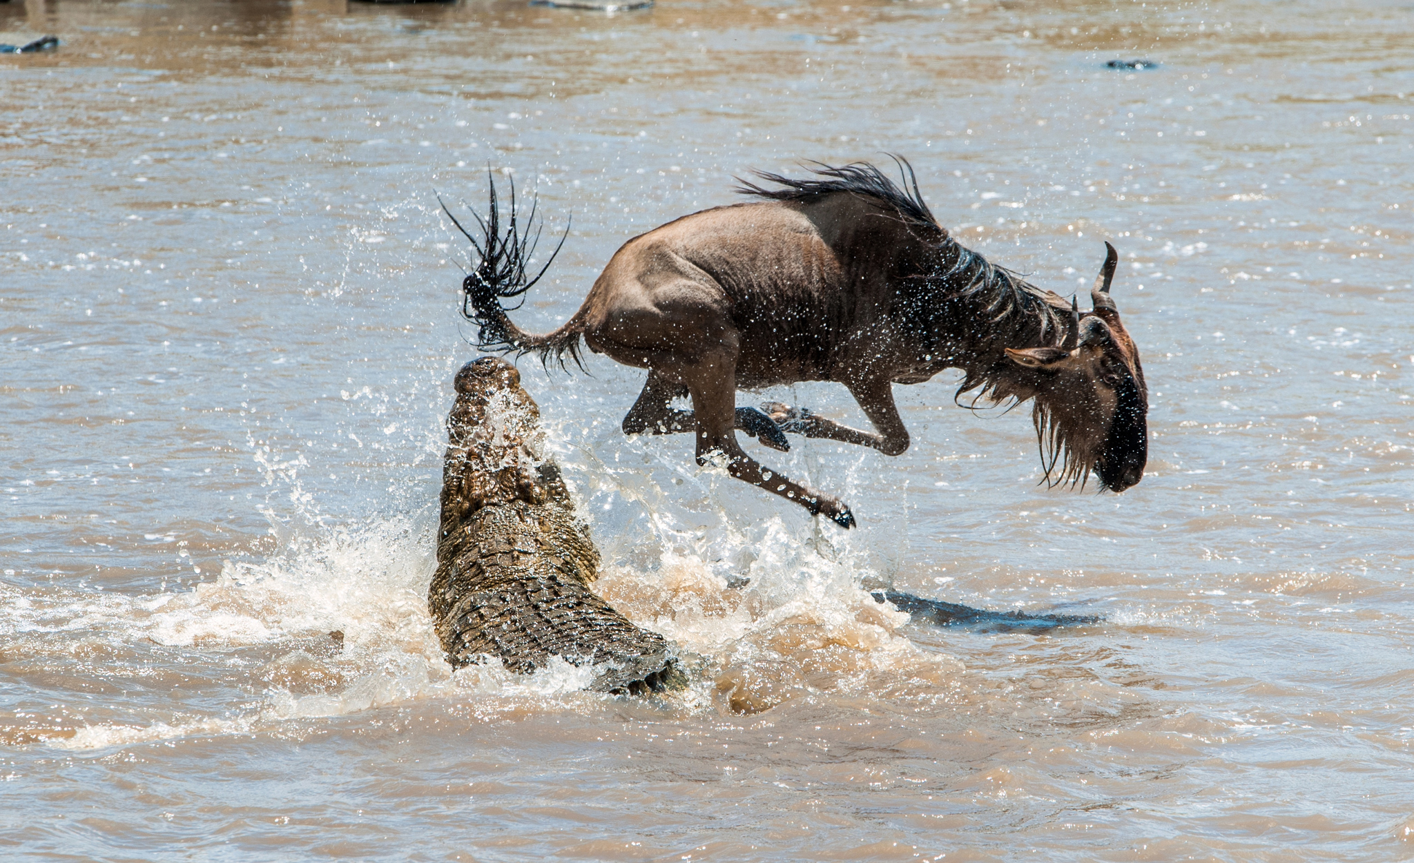
M461 282L461 314L478 325L477 347L482 351L496 354L506 354L509 351L516 351L520 355L536 354L540 357L540 362L549 362L553 357L561 366L564 365L566 355L568 355L575 365L583 368L584 364L581 362L580 352L583 328L578 314L554 332L546 335L523 331L506 314L508 311L520 308L525 303L525 293L550 269L556 255L560 253L560 248L564 246L566 236L570 235L568 224L566 224L564 235L560 236L560 242L544 262L544 266L540 267L539 273L532 276L527 267L534 255L536 243L540 242L543 228L543 224L536 224L539 199L530 199L530 214L523 219L525 229L522 231L520 214L516 212L516 185L512 180L509 215L506 218L506 228L502 231L496 183L489 171L486 177L491 187L491 211L485 219L477 211L471 211L472 218L481 226L481 239L472 236L457 221L457 216L447 209L447 205L443 204L443 212L471 241L471 246L479 257L475 267ZM515 297L520 297L520 300L515 306L508 307L505 301Z

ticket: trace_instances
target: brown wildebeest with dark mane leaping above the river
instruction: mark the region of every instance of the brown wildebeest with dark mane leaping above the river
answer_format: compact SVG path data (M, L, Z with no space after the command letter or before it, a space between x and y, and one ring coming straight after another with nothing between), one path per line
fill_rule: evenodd
M959 368L954 400L967 392L973 403L1035 400L1045 481L1083 487L1093 470L1113 491L1138 482L1148 392L1110 299L1114 248L1106 243L1093 310L1082 314L1073 297L1066 303L957 243L923 202L912 167L895 161L905 188L867 163L816 164L809 180L758 173L773 188L738 187L755 201L624 243L580 310L547 335L516 327L502 300L525 294L554 256L530 276L534 208L522 231L512 185L502 232L492 183L491 212L477 215L479 241L452 218L479 256L462 282L462 314L479 324L482 349L578 362L583 340L646 368L625 433L696 432L699 464L723 458L731 475L846 528L854 525L848 506L758 464L735 430L782 451L782 432L792 432L898 456L909 440L892 385ZM799 381L843 383L875 432L779 403L737 407L738 389ZM672 406L682 396L691 410Z

